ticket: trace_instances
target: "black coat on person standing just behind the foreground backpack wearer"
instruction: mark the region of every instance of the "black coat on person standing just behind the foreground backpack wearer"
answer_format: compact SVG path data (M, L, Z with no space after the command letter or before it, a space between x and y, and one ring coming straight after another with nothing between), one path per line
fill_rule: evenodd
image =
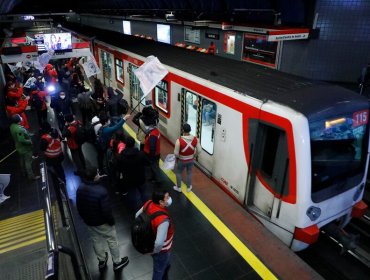
M128 148L118 156L118 168L122 172L123 183L127 187L138 187L145 183L145 166L148 158L136 147Z

